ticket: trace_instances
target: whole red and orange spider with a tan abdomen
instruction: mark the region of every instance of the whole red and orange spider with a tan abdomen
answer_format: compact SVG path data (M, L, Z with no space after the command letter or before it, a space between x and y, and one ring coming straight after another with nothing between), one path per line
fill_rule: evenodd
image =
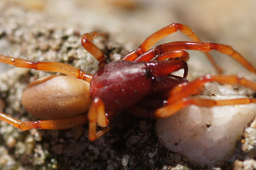
M171 42L150 49L160 39L176 31L187 35L193 42ZM108 131L108 119L124 109L141 116L164 118L188 105L213 107L256 103L253 98L219 101L190 98L199 94L207 82L239 84L253 90L256 90L256 82L238 76L209 74L188 82L186 61L189 55L184 51L186 49L203 51L219 73L222 72L221 68L207 51L224 53L250 72L256 73L256 69L229 45L200 42L192 29L184 24L173 23L156 31L121 61L108 64L104 54L92 43L97 35L99 33L91 32L82 35L81 39L82 47L100 62L100 69L94 75L85 74L64 63L31 62L0 55L1 63L68 75L36 80L24 90L24 108L35 117L45 120L21 122L4 113L0 113L0 119L22 131L31 128L66 129L89 122L89 139L95 140ZM184 69L183 77L170 74L180 69ZM156 110L149 114L144 111L148 107ZM97 124L106 128L96 132Z

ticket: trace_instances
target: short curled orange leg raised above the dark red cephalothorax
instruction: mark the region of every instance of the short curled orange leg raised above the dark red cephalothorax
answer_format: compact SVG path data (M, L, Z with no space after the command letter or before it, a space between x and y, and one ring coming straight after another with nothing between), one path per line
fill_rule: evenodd
M102 34L94 31L82 35L81 44L86 51L88 51L94 58L98 60L98 62L100 62L98 67L101 68L106 64L106 56L95 44L92 43L93 39L95 39L98 35Z

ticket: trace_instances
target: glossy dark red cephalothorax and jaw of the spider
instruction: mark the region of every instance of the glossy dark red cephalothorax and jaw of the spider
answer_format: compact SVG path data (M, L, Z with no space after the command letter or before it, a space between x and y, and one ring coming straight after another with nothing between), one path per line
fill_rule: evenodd
M124 110L156 91L158 84L170 80L168 74L182 68L187 72L184 61L115 61L94 74L90 81L90 94L92 98L102 100L106 111ZM179 83L166 83L164 90L171 90Z

